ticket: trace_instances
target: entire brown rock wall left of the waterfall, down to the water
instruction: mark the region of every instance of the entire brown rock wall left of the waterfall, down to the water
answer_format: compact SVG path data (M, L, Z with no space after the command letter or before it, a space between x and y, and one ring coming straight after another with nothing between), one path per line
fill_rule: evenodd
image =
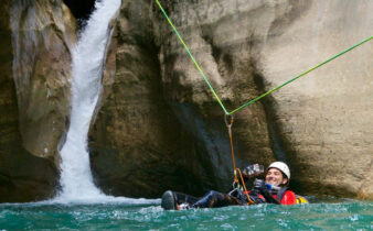
M75 22L61 1L0 8L0 202L41 200L57 187Z

